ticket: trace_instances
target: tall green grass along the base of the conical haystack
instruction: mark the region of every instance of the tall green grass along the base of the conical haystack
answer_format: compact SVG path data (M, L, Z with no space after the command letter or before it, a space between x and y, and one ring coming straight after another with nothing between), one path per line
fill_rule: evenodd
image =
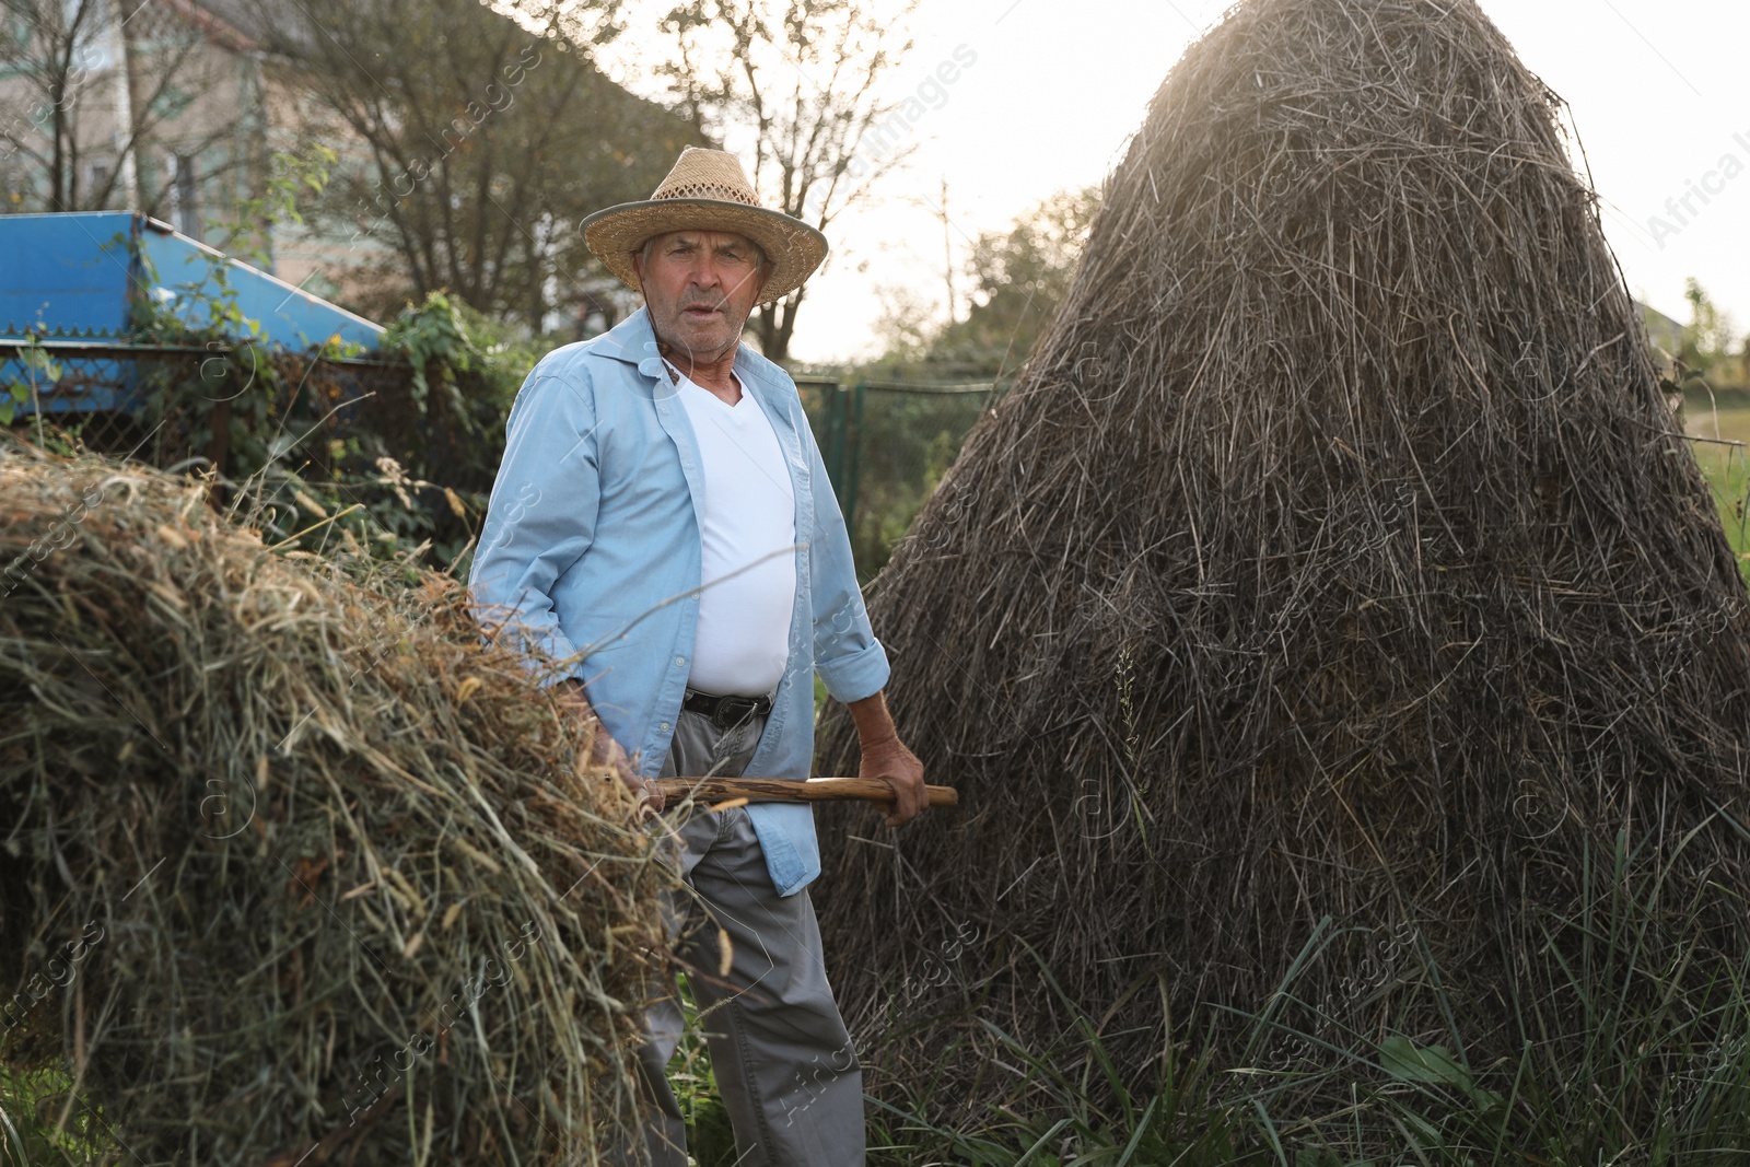
M1517 985L1508 1041L1488 1043L1512 1055L1472 1064L1466 1048L1486 1043L1426 945L1395 987L1421 994L1423 1018L1437 1006L1444 1032L1363 1034L1316 1010L1288 1025L1274 1006L1295 1003L1292 973L1239 1053L1169 1043L1146 1095L1125 1088L1136 1076L1113 1066L1092 1018L1046 1043L970 1018L1001 1088L956 1109L928 1081L889 1081L870 1099L872 1164L1750 1164L1750 954L1710 950L1706 905L1666 903L1652 856L1622 840L1582 875L1582 903L1538 924L1528 964L1542 971ZM1256 1064L1283 1038L1311 1053Z

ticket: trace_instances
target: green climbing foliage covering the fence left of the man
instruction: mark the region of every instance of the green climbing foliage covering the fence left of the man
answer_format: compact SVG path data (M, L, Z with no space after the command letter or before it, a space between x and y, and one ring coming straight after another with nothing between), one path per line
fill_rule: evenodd
M150 436L138 457L212 474L215 502L285 551L457 567L541 341L432 294L369 360L338 339L292 352L243 315L228 266L212 257L173 308L133 308L133 339L154 346L133 362Z

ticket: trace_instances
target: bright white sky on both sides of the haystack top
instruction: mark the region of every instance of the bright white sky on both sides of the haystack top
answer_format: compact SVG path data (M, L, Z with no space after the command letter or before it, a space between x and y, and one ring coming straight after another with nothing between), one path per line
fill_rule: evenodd
M956 259L980 231L1006 226L1054 191L1099 184L1167 70L1225 7L1223 0L924 0L915 47L884 93L894 100L914 93L956 49L976 59L917 121L919 149L908 164L882 180L875 201L833 224L833 255L808 285L793 355L814 362L870 355L882 287L903 285L940 315L943 231L931 205L943 178ZM1482 7L1526 65L1568 100L1629 289L1687 320L1684 280L1696 276L1717 303L1736 310L1740 331L1750 329L1750 3L1482 0ZM649 93L640 65L665 45L646 28L634 21L609 66ZM1703 201L1690 184L1713 192ZM1666 227L1650 224L1654 215Z

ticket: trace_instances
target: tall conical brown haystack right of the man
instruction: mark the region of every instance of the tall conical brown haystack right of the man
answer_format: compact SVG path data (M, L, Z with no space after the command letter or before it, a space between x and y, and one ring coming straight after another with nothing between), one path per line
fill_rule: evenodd
M1619 833L1648 952L1745 952L1745 586L1559 112L1472 0L1248 0L1171 72L877 583L896 721L970 808L896 849L822 815L889 1074L973 1018L1062 1032L1029 945L1132 1069L1157 978L1253 1011L1304 955L1377 1038L1414 950L1482 1066Z

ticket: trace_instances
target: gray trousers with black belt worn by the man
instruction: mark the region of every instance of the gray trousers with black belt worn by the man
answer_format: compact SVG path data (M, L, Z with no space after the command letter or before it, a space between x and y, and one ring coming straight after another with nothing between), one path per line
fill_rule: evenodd
M740 777L765 717L728 731L681 712L663 777ZM693 896L667 905L710 1067L735 1125L738 1167L863 1167L863 1069L826 983L807 891L779 896L746 808L695 814L676 861ZM718 929L730 936L719 976ZM639 1071L654 1167L686 1167L686 1123L665 1069L681 1041L674 976L654 987Z

